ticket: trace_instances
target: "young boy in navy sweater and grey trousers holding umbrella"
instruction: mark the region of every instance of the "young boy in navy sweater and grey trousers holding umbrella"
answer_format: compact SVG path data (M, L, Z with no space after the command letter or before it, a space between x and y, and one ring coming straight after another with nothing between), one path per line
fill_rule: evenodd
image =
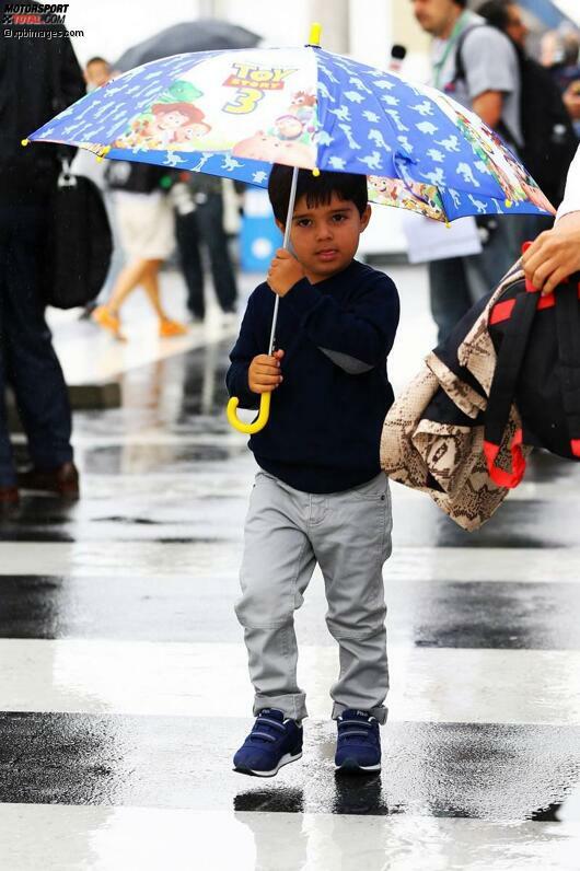
M292 170L268 185L283 231ZM391 553L391 498L379 463L393 402L386 357L398 323L390 278L353 259L371 214L363 175L301 170L290 241L267 283L250 297L227 375L245 408L271 392L266 427L252 436L256 475L245 524L242 596L255 689L254 728L236 771L272 777L302 755L305 695L297 684L293 612L316 562L326 623L339 646L330 689L338 722L336 768L381 768L379 723L388 688L382 566ZM275 294L276 350L268 357Z

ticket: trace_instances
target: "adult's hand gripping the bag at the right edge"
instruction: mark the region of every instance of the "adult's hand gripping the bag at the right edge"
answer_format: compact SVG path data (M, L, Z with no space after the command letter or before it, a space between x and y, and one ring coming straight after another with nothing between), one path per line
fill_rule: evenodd
M580 211L562 216L554 230L541 233L522 258L525 277L542 293L552 293L580 270Z

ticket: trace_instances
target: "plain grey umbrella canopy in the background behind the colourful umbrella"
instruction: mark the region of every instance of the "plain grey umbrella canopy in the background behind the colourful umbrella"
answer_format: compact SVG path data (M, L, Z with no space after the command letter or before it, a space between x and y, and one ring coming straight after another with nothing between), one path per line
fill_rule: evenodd
M126 72L151 60L186 51L213 51L224 48L252 48L262 36L239 24L218 19L199 19L174 24L125 51L113 68Z

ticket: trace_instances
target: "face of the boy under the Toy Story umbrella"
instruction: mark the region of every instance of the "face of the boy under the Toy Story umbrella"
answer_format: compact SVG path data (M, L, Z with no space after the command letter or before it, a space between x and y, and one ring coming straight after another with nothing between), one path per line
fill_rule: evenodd
M290 241L309 281L314 284L346 269L370 217L370 206L359 214L351 200L340 199L336 194L326 206L309 208L305 196L297 200ZM276 223L283 232L281 221Z

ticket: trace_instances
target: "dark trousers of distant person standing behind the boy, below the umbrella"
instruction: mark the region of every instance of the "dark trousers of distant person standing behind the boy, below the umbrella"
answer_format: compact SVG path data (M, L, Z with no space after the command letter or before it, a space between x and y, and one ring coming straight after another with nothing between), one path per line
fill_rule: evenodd
M213 286L221 309L232 312L237 289L223 230L223 200L220 194L209 194L207 201L196 205L195 211L176 216L176 239L182 269L187 284L187 307L196 317L204 317L204 266L201 245L207 246Z

